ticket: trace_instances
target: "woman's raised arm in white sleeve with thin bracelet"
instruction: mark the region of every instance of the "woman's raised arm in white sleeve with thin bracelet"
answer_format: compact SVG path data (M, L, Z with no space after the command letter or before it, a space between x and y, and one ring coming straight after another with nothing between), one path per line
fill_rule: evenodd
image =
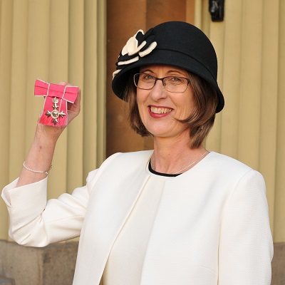
M67 83L61 82L67 86ZM80 90L74 104L67 106L68 123L80 111ZM4 187L2 198L10 216L9 236L15 242L43 247L78 237L89 199L88 185L76 188L72 195L46 201L45 173L51 167L56 141L66 127L36 126L35 137L18 180ZM95 173L95 172L93 172ZM89 176L92 180L93 176Z

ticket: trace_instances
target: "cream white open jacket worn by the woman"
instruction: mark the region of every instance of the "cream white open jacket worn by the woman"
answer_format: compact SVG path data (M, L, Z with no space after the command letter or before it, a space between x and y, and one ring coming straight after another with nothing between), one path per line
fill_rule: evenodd
M140 195L151 151L118 153L85 187L46 202L46 182L16 181L2 197L19 244L81 236L73 285L98 285L113 243ZM165 182L140 285L269 285L273 244L263 177L210 152ZM134 284L136 285L136 284Z

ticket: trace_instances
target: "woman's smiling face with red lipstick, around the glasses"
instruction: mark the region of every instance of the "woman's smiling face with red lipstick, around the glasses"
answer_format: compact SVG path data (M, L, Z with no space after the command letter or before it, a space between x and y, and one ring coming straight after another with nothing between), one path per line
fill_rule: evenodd
M189 78L187 71L174 66L144 66L140 73L147 73L157 78L180 76ZM171 93L165 90L162 81L157 81L150 90L137 88L137 101L140 118L145 128L155 137L177 138L189 130L183 120L189 117L195 108L195 100L190 83L185 92Z

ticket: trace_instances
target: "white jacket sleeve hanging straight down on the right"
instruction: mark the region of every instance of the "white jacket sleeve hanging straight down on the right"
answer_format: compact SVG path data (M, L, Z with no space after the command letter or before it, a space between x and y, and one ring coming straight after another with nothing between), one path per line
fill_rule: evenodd
M222 215L219 285L270 285L273 242L262 175L249 170Z

